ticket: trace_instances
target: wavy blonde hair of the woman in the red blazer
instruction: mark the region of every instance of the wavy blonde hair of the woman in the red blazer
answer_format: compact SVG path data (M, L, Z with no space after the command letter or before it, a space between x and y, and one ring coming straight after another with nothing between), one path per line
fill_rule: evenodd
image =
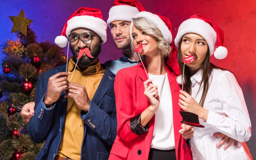
M144 17L132 18L133 25L138 29L147 33L147 35L152 36L156 42L158 48L161 50L162 57L169 57L171 52L171 46L168 44L167 40L163 38L162 32L152 23L149 19ZM132 50L134 50L133 45Z

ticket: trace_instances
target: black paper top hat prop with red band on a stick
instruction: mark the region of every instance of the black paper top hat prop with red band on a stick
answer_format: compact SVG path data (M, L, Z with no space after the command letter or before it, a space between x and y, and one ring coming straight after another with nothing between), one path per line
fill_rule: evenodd
M183 121L181 121L181 123L189 126L204 128L203 125L200 125L197 114L186 111L180 111L180 114L183 118Z

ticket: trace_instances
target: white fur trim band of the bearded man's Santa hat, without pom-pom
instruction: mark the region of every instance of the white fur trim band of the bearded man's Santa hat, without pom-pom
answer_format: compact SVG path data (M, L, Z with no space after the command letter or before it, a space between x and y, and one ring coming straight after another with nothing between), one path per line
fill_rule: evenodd
M66 35L70 34L70 32L75 28L87 28L95 33L97 33L100 38L102 39L103 43L106 42L106 22L101 18L94 17L94 16L74 16L70 20L68 20L68 26L66 30Z

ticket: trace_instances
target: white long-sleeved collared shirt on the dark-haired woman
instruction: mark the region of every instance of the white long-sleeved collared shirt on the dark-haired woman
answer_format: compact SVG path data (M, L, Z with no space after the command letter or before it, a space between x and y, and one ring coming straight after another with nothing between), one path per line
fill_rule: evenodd
M199 103L203 84L202 70L193 75L191 96ZM194 127L194 137L190 141L193 159L196 160L220 160L220 159L247 159L245 151L240 144L239 148L232 145L225 151L224 145L217 149L216 144L221 138L213 137L213 133L221 132L239 142L248 141L251 138L251 121L245 104L243 92L232 73L221 69L213 69L210 86L204 101L204 108L209 110L207 122L199 118L199 122L205 128ZM177 78L181 84L181 76Z

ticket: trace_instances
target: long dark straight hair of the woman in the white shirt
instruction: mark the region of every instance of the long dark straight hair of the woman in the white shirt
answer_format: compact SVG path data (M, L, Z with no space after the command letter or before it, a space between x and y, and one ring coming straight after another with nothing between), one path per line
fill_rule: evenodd
M180 66L181 76L183 74L183 62L181 62L181 59L182 59L181 43L182 43L183 36L180 39L179 47L178 47L178 63L179 63L179 66ZM201 81L199 90L197 91L197 94L199 93L199 91L202 87L202 84L203 84L203 94L202 94L202 97L201 97L200 102L199 102L199 105L203 107L204 100L206 98L206 95L207 95L207 92L208 92L208 89L209 89L209 86L210 86L210 83L211 83L211 80L212 80L212 76L211 76L212 70L213 69L227 70L227 69L217 67L217 66L215 66L214 64L212 64L210 62L209 46L208 46L207 55L206 55L200 69L202 69L202 81ZM191 83L192 83L190 81L190 77L191 76L190 76L189 68L188 68L188 66L185 65L185 69L184 69L184 81L185 81L184 91L186 91L189 95L191 95Z

